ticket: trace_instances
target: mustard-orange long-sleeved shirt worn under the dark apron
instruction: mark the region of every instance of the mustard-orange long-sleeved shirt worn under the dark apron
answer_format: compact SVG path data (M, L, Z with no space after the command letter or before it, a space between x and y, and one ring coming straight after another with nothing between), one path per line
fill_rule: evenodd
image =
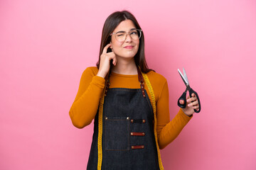
M105 79L97 77L97 72L97 67L88 67L82 73L78 94L69 112L72 123L77 128L90 125L97 113L100 97L105 86ZM153 87L156 98L156 132L159 148L164 149L178 136L192 117L188 117L180 109L175 118L170 121L169 89L166 79L152 71L146 75ZM123 75L112 72L110 76L111 88L140 89L138 75ZM147 86L145 86L145 89L151 101Z

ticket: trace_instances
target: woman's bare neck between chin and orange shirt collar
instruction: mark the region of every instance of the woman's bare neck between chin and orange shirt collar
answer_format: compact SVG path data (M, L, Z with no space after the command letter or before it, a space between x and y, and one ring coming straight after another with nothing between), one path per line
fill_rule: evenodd
M126 75L137 74L138 72L134 57L132 59L117 57L117 65L112 67L112 72Z

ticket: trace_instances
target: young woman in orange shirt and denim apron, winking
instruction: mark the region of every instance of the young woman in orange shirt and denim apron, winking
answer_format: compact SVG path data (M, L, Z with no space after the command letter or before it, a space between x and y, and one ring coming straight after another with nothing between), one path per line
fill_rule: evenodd
M164 169L159 149L198 109L194 94L187 101L170 121L167 81L147 67L142 28L132 13L112 13L102 30L97 67L83 72L70 108L77 128L95 120L87 169Z

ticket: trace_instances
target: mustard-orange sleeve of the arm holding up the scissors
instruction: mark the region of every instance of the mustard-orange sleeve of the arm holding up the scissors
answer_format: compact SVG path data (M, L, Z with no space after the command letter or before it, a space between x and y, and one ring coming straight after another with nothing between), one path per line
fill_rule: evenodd
M171 143L181 130L185 127L191 117L183 113L182 109L178 111L173 120L169 116L169 89L167 81L165 82L159 100L156 102L156 132L158 136L159 148L164 149Z

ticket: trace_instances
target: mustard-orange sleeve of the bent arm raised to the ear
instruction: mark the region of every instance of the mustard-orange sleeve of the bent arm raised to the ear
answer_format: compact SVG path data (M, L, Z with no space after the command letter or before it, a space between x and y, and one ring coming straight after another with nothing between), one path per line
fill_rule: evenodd
M90 125L95 118L104 86L105 79L95 76L90 67L82 73L78 94L69 111L76 128Z

